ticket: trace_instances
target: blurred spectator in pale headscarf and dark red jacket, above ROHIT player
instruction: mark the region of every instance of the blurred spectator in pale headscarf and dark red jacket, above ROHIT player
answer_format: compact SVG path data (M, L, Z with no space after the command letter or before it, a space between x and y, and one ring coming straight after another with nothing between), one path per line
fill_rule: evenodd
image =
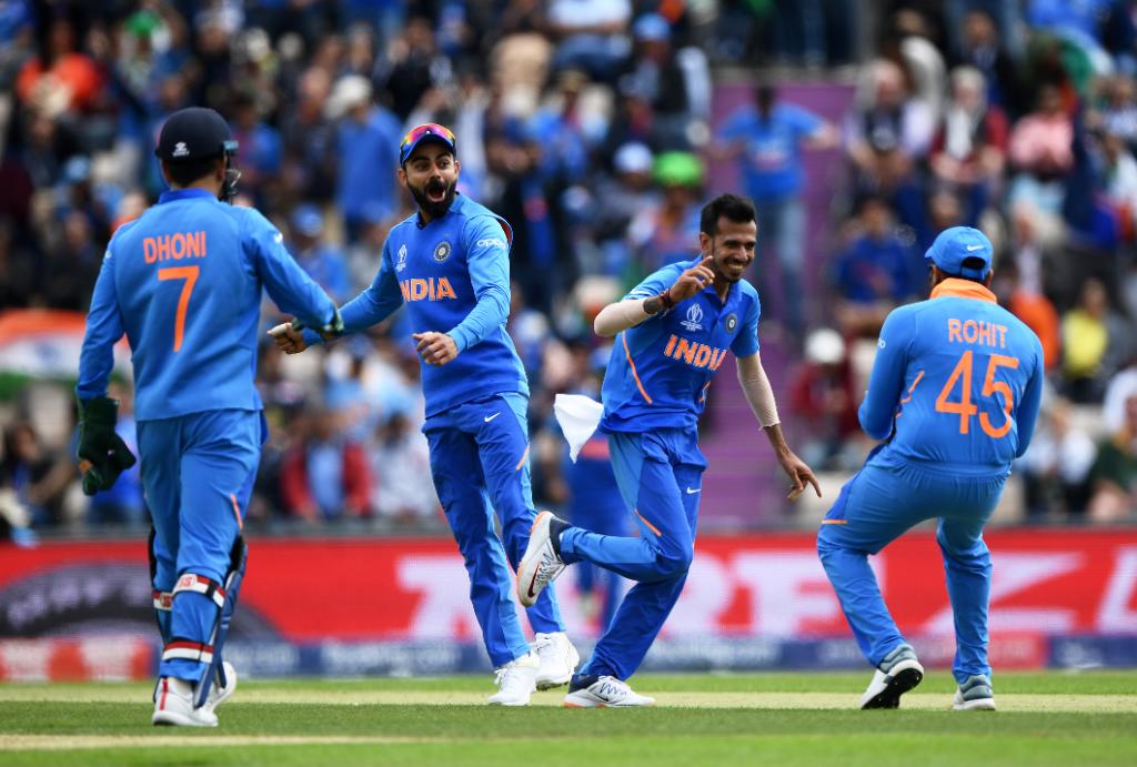
M936 181L965 195L969 208L965 219L974 222L1001 191L1007 122L1003 110L987 103L984 76L978 69L953 69L951 84L951 98L932 141L929 165Z

